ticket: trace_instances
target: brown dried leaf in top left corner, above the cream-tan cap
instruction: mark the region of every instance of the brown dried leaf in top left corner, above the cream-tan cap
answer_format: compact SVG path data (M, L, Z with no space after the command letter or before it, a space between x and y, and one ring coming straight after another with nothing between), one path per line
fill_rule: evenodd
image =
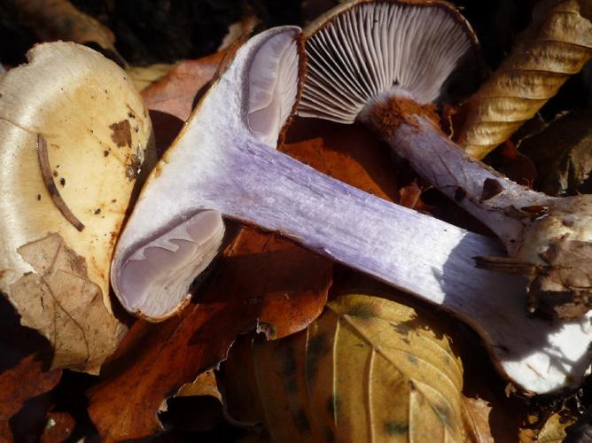
M15 0L14 4L19 11L19 19L31 27L43 42L93 42L117 54L113 46L113 32L67 0Z

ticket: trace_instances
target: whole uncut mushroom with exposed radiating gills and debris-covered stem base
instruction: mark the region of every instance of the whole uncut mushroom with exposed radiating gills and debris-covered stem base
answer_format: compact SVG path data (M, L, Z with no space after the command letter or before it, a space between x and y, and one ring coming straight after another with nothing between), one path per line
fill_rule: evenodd
M373 128L502 240L508 256L476 254L479 267L527 276L531 311L567 320L586 315L592 196L555 198L518 185L469 158L440 130L432 102L478 63L475 36L454 7L439 0L350 2L305 34L299 114Z

